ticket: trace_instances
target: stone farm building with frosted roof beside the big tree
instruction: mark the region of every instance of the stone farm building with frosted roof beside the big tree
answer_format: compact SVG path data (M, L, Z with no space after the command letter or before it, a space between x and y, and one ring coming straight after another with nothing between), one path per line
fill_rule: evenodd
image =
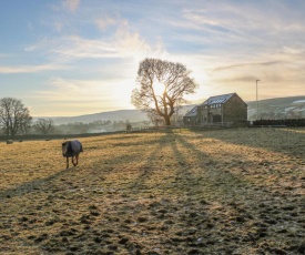
M246 121L247 104L236 93L211 96L183 116L185 125L232 125Z

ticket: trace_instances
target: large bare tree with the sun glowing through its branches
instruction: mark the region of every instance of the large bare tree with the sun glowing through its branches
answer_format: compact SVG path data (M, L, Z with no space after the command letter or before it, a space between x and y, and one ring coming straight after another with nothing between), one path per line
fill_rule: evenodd
M177 103L185 102L184 95L194 93L197 88L190 73L181 63L143 60L136 78L139 88L132 91L132 104L150 118L161 116L165 125L171 125Z

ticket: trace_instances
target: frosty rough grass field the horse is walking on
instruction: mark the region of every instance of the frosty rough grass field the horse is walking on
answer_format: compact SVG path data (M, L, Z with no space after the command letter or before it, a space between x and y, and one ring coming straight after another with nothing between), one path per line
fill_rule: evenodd
M305 129L0 149L1 254L305 254Z

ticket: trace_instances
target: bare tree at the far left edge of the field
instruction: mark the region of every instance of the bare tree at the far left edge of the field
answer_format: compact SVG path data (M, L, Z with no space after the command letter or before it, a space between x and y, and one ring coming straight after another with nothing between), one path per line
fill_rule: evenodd
M4 133L14 136L22 125L31 123L31 115L28 108L20 100L3 98L0 100L0 125Z

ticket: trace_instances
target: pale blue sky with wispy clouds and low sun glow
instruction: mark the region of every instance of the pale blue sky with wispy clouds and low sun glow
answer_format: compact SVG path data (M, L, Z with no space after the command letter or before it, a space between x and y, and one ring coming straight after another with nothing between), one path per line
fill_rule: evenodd
M1 1L0 99L32 116L134 109L145 58L192 71L190 103L305 95L305 1Z

